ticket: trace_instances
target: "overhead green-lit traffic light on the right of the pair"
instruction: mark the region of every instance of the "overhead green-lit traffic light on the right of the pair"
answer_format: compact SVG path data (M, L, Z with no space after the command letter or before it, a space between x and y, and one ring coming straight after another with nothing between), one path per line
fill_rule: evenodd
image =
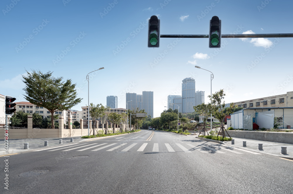
M221 47L221 20L213 16L209 21L209 48Z

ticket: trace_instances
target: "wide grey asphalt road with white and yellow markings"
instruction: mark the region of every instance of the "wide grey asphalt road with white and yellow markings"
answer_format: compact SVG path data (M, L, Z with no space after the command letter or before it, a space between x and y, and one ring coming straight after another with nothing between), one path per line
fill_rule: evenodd
M0 193L293 193L292 160L166 131L44 149L10 155L9 190L0 157Z

